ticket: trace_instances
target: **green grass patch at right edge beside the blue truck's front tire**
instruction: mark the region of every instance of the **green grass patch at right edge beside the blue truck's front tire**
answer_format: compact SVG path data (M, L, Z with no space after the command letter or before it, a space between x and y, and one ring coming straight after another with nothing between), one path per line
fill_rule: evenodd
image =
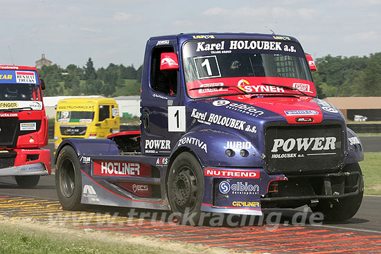
M364 194L381 195L381 152L365 152L360 167L364 174Z

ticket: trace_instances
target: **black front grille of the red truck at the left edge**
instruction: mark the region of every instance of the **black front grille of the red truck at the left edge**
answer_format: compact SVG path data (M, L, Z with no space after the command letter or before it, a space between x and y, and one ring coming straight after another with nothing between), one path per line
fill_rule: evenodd
M0 118L0 147L15 147L17 143L17 127L19 118Z

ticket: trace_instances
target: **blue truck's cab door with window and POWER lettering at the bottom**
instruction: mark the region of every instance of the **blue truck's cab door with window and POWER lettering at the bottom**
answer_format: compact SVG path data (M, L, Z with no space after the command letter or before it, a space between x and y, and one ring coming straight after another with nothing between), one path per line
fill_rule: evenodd
M172 40L169 40L166 46L154 46L159 45L159 42L150 42L152 48L148 46L146 52L150 55L146 56L142 79L142 150L145 154L169 155L181 133L180 129L172 128L172 123L178 122L179 115L183 119L183 114L185 120L185 107L176 112L181 98L179 71L160 70L161 53L176 52L177 40L174 39L172 45Z

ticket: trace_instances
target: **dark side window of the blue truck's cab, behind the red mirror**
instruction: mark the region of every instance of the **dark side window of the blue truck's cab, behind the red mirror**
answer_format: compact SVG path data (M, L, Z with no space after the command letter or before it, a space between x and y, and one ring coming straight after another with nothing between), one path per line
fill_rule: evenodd
M152 51L151 88L159 93L175 96L177 93L177 70L160 71L161 53L173 53L173 47L157 47Z

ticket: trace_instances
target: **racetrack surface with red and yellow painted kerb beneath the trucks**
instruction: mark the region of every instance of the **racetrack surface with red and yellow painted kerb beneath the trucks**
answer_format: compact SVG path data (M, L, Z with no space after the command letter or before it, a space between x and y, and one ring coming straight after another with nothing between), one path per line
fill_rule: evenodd
M365 152L381 152L381 137L360 138ZM369 151L370 148L373 150ZM302 210L265 210L265 216L281 212L281 220L276 223L265 220L264 224L244 223L238 226L181 226L168 223L165 219L163 222L160 216L156 218L161 219L141 218L142 213L152 212L150 210L138 209L139 214L132 217L128 208L109 206L86 206L79 212L64 211L57 201L54 174L42 176L37 188L31 190L19 189L12 177L0 178L0 217L9 219L32 219L85 230L148 235L202 244L206 248L219 246L232 251L272 254L381 253L381 196L364 196L357 214L340 223L298 224L296 221L292 224L292 218Z

